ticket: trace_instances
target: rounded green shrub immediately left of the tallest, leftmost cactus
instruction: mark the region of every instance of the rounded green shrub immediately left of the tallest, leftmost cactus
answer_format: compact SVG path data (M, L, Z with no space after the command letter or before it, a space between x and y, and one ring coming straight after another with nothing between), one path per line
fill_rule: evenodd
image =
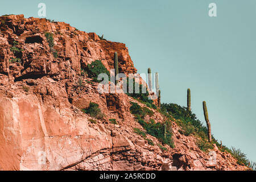
M94 82L101 82L102 80L98 80L98 75L100 73L105 73L108 75L109 80L110 80L110 73L108 69L102 64L101 60L95 60L92 62L92 64L88 64L87 67L85 68L86 72L88 73L88 76L90 78L93 78Z

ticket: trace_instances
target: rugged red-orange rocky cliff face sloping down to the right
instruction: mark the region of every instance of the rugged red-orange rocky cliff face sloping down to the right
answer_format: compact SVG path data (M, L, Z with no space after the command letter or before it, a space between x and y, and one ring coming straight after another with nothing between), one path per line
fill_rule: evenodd
M97 83L81 76L81 67L101 60L119 72L136 73L125 44L100 40L63 22L0 17L0 169L2 170L245 170L217 147L216 163L196 146L196 137L181 135L172 123L175 148L151 146L133 128L142 129L130 114L126 94L100 94ZM54 50L44 36L53 34ZM15 44L15 45L14 45ZM18 48L16 51L11 47ZM76 92L79 77L84 89ZM85 80L88 80L86 82ZM104 121L91 123L81 112L90 101L100 105ZM152 118L163 122L158 111ZM109 118L115 118L114 125ZM149 118L147 118L149 119Z

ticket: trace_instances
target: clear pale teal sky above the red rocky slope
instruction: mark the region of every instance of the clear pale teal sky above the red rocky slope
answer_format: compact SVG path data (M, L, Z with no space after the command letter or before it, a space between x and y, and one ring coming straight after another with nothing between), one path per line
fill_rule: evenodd
M256 1L109 0L3 1L0 14L48 19L126 43L139 73L159 72L162 102L187 104L204 121L207 102L212 133L256 162ZM209 17L209 3L217 17Z

